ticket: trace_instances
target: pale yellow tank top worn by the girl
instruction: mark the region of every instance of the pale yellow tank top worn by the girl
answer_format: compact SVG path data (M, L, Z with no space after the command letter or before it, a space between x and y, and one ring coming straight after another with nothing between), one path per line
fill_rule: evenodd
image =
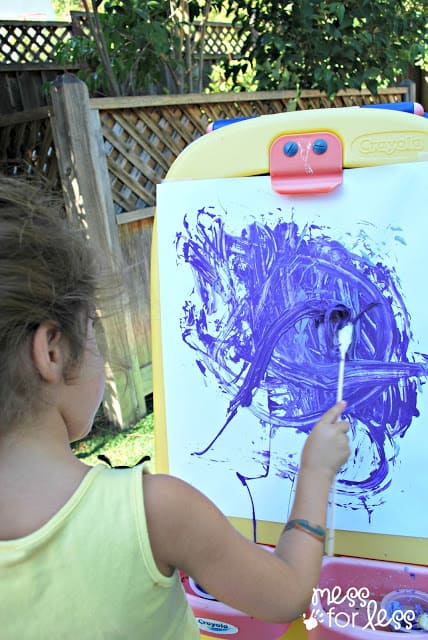
M0 542L1 640L196 640L178 573L154 562L142 466L91 469L43 527Z

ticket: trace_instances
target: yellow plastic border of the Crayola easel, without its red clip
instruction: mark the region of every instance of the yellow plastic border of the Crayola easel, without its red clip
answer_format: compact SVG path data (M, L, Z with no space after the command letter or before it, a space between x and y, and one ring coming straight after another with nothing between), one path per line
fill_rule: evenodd
M190 144L175 160L166 180L251 178L268 174L269 149L276 138L318 131L331 132L340 138L343 168L428 160L426 118L387 109L318 109L261 116L219 128ZM168 473L156 221L152 247L156 470ZM251 538L251 522L240 518L230 518L230 521L243 535ZM258 521L257 528L261 542L275 543L283 523ZM337 531L335 554L428 565L428 538Z

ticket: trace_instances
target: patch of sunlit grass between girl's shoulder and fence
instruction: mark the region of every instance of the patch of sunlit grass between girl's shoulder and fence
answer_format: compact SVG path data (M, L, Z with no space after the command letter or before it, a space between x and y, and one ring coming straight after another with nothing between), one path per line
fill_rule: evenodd
M79 442L73 443L74 453L89 465L100 461L98 455L107 456L115 466L133 466L143 456L150 456L154 469L153 413L142 418L126 431L118 431L106 424L102 414L95 419L91 433Z

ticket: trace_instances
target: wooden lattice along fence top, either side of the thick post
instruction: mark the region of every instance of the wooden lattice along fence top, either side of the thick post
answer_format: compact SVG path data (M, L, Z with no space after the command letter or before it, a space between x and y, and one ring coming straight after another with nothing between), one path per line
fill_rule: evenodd
M329 100L319 91L188 94L96 98L112 197L119 224L153 215L156 185L178 154L223 118L281 113L408 99L407 87L383 89L377 96L348 89ZM0 115L0 169L38 172L58 183L50 110Z

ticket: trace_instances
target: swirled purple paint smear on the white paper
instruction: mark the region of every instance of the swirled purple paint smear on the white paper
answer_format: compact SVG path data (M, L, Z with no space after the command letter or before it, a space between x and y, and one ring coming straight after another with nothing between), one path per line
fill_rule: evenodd
M326 235L295 222L252 222L238 235L210 207L187 217L177 234L179 262L195 286L183 305L183 341L195 351L201 375L230 397L225 421L204 456L241 407L269 430L261 452L270 471L270 444L279 428L309 433L335 402L337 330L350 319L344 398L353 453L338 478L338 504L370 513L382 503L397 460L397 439L418 416L417 391L428 371L426 354L409 354L410 318L394 269L361 257ZM227 214L226 214L227 215ZM403 240L400 238L400 242ZM293 479L298 460L284 455L276 473ZM247 488L248 477L237 470ZM377 496L377 498L375 498ZM377 502L376 502L377 500Z

